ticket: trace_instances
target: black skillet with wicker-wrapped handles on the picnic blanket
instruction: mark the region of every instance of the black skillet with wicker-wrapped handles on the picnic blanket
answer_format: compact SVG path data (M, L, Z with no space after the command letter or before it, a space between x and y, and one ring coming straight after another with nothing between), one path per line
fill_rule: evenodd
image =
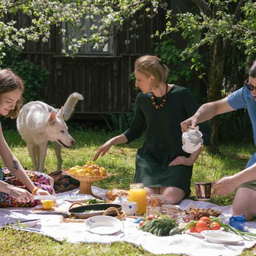
M69 210L69 213L74 216L75 218L78 219L87 219L92 216L97 216L97 215L103 215L105 210L107 210L110 207L115 207L117 208L118 211L121 211L122 205L120 204L115 204L115 203L95 203L95 204L88 204L88 205L83 205L83 206L78 206L74 207ZM96 213L90 213L90 212L85 212L85 211L99 211ZM107 213L109 216L117 216L117 213L115 211L109 211Z

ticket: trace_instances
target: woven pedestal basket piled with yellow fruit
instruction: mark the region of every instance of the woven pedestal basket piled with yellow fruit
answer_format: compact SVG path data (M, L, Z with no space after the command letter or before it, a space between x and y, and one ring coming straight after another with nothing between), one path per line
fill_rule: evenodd
M101 199L101 197L92 193L91 183L101 181L111 176L111 173L107 172L104 167L95 165L93 161L87 161L84 166L76 165L70 169L64 169L63 172L80 181L80 194L89 194L99 199Z

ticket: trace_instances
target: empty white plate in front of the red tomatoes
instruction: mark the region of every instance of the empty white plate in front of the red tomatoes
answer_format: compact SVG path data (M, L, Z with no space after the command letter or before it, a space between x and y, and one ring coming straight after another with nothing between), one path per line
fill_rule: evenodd
M239 235L219 230L205 230L202 231L201 234L206 238L208 242L214 244L235 245L238 242L244 240Z

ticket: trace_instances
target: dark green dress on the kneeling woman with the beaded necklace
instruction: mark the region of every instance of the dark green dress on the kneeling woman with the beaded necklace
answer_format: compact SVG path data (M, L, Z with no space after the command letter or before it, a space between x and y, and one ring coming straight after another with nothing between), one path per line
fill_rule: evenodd
M130 143L141 136L146 125L145 142L136 155L134 183L144 183L145 187L178 187L189 195L193 166L168 165L177 156L190 156L181 148L180 123L197 111L197 101L189 89L177 85L167 92L166 104L160 109L152 106L151 96L151 92L139 92L130 128L123 133ZM156 103L162 98L156 97ZM210 125L200 124L200 131L204 145L208 145Z

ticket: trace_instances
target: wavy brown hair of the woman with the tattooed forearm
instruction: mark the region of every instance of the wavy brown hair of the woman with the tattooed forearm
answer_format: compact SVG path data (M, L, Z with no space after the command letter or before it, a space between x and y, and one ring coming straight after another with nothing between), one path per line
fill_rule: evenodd
M11 69L0 70L0 94L20 89L23 93L24 83L23 80L12 72ZM23 98L21 97L14 109L12 109L5 117L15 118L18 116L23 104Z

